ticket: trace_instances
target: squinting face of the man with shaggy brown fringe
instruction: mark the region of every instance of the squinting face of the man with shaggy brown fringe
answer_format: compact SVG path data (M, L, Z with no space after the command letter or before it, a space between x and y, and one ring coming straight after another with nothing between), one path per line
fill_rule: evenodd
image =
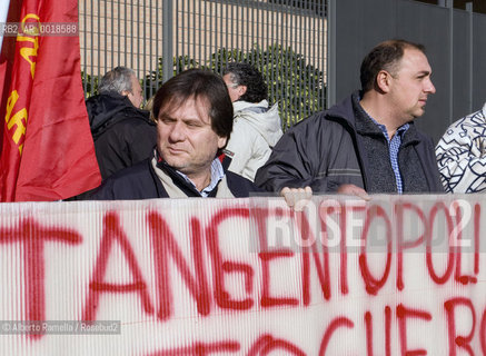
M227 138L212 130L208 112L208 103L194 98L179 106L162 107L159 111L159 154L169 166L189 178L210 174L218 149L226 145Z

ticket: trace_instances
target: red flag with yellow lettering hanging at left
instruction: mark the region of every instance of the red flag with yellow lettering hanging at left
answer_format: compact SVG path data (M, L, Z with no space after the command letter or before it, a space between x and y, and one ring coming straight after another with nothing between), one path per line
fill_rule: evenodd
M13 38L11 80L7 71L0 81L0 200L65 199L101 180L85 106L79 38L72 36L78 2L17 0L11 7L20 2L16 22L23 33ZM2 56L9 53L2 50Z

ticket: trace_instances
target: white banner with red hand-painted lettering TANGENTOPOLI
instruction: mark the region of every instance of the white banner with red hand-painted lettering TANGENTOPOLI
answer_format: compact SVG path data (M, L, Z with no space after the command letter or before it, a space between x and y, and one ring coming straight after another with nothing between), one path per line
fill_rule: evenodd
M0 205L1 355L486 355L480 195Z

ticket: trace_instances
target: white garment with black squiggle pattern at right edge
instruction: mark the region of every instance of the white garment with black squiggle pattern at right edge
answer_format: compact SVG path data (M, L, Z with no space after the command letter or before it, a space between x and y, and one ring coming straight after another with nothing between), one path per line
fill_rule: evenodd
M485 191L486 103L450 125L435 151L447 192Z

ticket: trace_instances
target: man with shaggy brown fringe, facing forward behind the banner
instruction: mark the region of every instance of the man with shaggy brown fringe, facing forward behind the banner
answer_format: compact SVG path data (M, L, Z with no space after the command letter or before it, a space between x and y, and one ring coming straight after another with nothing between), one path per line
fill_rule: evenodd
M91 199L238 198L260 190L218 159L234 113L221 77L186 70L160 87L152 110L158 135L151 157L105 180Z

